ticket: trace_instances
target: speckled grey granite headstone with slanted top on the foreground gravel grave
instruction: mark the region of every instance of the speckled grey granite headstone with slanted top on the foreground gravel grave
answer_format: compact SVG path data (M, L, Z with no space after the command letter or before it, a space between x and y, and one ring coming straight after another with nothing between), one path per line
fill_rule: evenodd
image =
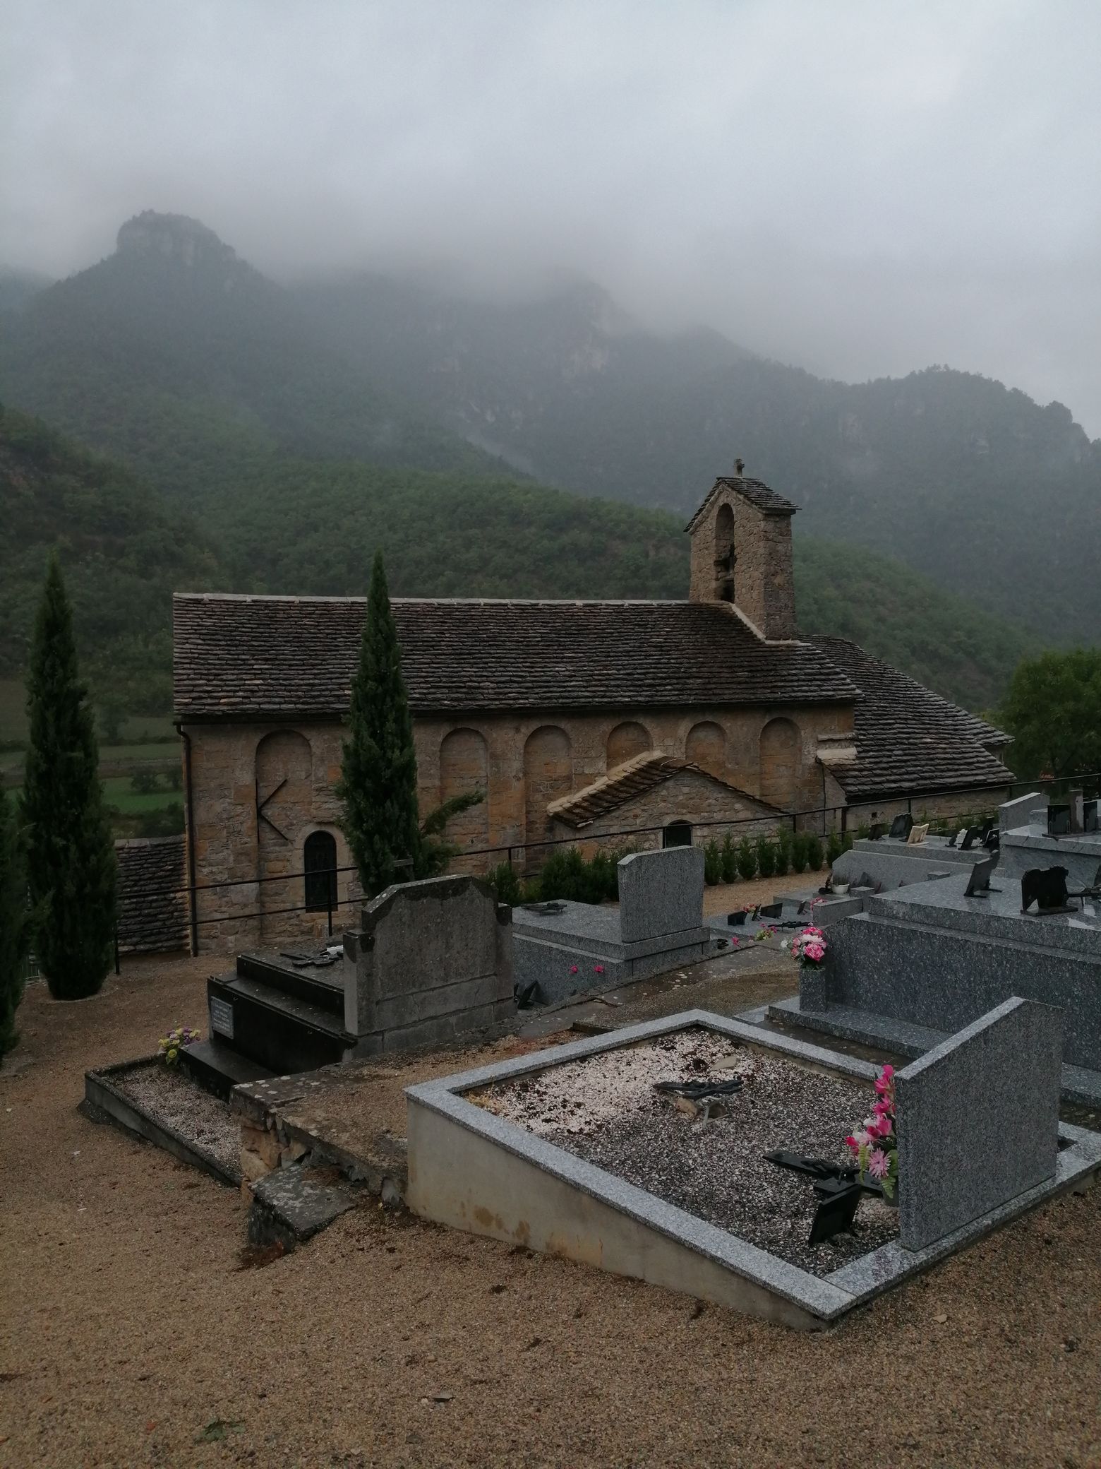
M1063 1012L1013 997L897 1074L904 1249L1054 1177L1061 1052Z

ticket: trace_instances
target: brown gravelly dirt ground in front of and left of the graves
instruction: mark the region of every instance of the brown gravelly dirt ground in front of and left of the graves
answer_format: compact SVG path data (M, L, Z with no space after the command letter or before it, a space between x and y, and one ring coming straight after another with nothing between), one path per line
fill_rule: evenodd
M1101 1465L1101 1188L818 1335L373 1205L239 1269L233 1190L76 1112L85 1066L203 1024L210 970L28 992L0 1465Z

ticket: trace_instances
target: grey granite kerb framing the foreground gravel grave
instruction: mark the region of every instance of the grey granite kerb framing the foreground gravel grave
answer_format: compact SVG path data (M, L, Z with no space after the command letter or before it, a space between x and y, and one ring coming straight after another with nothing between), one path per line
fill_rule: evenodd
M520 1124L509 1122L473 1102L467 1102L462 1096L465 1091L499 1081L511 1081L568 1061L581 1061L606 1050L617 1050L693 1027L715 1031L762 1050L778 1052L793 1061L841 1074L854 1081L866 1081L869 1087L879 1071L871 1061L860 1061L856 1056L828 1050L791 1036L765 1031L757 1025L715 1015L711 1011L688 1009L661 1019L643 1021L637 1025L625 1025L600 1036L570 1042L564 1046L552 1046L526 1056L477 1066L451 1077L421 1081L405 1087L405 1096L408 1102L483 1137L550 1177L634 1219L644 1228L650 1228L755 1285L791 1302L821 1321L822 1325L835 1322L854 1307L866 1304L909 1277L920 1274L948 1255L976 1243L991 1230L1045 1203L1055 1194L1083 1185L1086 1177L1101 1168L1101 1134L1060 1122L1058 1136L1067 1146L1058 1155L1057 1174L1050 1183L1009 1200L922 1250L904 1250L897 1241L893 1241L840 1266L831 1275L819 1277L781 1260L737 1234L708 1224L675 1205L665 1203L615 1174L528 1133Z

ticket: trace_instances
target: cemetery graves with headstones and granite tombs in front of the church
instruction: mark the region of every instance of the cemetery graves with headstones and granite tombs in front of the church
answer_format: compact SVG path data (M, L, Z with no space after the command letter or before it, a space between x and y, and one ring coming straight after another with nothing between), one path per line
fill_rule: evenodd
M703 921L699 849L624 858L617 908L514 911L470 876L398 884L339 946L239 955L207 981L208 1040L185 1036L173 1069L90 1072L88 1102L239 1181L257 1247L294 1249L367 1196L822 1328L1101 1166L1101 1134L1058 1112L1101 1097L1092 905L1022 912L1020 880L992 883L988 848L926 842L847 853L860 874L884 862L913 878L901 886L853 893L843 871L849 892L755 909L790 936L797 996L738 1018L627 1017L580 1040L575 992L706 965L744 923ZM521 995L564 1006L546 1042L517 1044ZM831 1034L915 1059L893 1072ZM888 1093L879 1149L862 1128ZM976 1133L1011 1146L976 1150Z

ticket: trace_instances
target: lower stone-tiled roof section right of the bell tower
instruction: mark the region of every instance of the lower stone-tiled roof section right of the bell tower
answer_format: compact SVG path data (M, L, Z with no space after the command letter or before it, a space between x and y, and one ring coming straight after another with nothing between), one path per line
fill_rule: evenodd
M856 761L829 767L849 801L919 790L981 790L1013 780L994 754L1010 743L1003 730L847 638L813 642L862 693L853 715Z

